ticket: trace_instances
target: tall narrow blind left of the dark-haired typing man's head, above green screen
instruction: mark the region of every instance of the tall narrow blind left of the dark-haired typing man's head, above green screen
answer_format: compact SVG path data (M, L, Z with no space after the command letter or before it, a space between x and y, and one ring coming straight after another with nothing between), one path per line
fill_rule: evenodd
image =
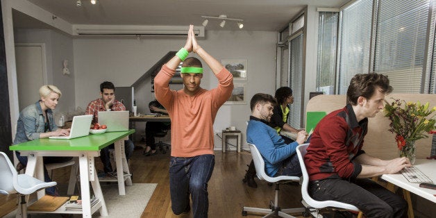
M317 92L335 94L339 12L319 12Z

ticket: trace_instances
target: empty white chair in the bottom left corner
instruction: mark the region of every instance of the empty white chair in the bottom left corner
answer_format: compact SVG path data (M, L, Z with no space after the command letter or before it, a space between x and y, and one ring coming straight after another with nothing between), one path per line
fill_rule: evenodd
M22 217L27 217L27 194L32 194L33 192L55 185L56 182L44 183L27 174L17 174L14 165L12 165L6 153L0 152L0 193L17 193L19 195Z

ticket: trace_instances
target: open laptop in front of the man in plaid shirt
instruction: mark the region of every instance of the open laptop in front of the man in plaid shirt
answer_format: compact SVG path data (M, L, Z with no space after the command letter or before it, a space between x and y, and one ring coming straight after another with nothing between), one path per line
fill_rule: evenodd
M106 132L128 131L128 110L99 111L99 124L108 126Z

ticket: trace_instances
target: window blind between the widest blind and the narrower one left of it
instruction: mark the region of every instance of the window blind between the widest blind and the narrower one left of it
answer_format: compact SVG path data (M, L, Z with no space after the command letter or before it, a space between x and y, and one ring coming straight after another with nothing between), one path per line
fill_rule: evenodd
M372 0L361 0L342 11L337 94L346 94L355 74L369 72Z

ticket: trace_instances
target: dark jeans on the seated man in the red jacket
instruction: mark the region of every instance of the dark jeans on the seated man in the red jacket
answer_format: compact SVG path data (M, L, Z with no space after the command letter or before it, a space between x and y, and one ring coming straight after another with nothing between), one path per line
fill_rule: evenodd
M350 183L341 178L310 183L310 196L318 201L340 201L362 210L365 217L406 217L408 203L368 178Z

